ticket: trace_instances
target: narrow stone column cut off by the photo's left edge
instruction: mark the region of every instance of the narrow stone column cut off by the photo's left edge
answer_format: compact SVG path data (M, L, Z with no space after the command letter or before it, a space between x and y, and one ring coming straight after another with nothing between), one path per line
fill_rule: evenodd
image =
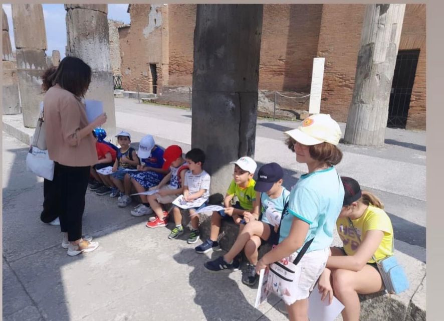
M13 61L13 48L9 37L8 17L3 10L3 113L20 114L19 80L17 78L17 66Z

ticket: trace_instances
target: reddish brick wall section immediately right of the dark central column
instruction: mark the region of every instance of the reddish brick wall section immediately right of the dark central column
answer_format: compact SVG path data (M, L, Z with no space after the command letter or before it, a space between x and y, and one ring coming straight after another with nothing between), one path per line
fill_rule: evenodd
M310 90L322 5L264 5L259 89Z

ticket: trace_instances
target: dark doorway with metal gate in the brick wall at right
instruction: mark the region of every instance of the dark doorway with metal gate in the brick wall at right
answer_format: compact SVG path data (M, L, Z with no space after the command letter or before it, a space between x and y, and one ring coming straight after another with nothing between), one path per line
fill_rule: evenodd
M399 50L388 103L387 127L405 128L419 50Z

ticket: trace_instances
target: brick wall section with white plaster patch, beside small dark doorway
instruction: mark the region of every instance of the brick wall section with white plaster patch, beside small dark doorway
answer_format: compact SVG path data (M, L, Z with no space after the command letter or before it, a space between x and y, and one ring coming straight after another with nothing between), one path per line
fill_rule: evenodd
M157 68L157 85L162 84L162 5L132 4L131 25L119 29L122 58L122 87L152 92L150 64Z

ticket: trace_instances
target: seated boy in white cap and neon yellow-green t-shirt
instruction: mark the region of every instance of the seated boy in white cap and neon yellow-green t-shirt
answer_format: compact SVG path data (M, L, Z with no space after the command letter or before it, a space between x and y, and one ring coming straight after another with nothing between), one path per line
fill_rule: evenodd
M210 237L195 248L197 253L206 253L219 249L217 236L219 235L223 219L232 218L236 224L240 225L240 231L242 231L245 223L259 217L259 204L256 201L256 191L254 189L256 181L253 179L257 168L256 162L251 157L245 156L239 158L236 162L230 163L235 164L235 170L233 172L233 181L225 195L225 209L213 212ZM232 206L231 201L235 196L239 202ZM232 264L233 262L228 263Z

